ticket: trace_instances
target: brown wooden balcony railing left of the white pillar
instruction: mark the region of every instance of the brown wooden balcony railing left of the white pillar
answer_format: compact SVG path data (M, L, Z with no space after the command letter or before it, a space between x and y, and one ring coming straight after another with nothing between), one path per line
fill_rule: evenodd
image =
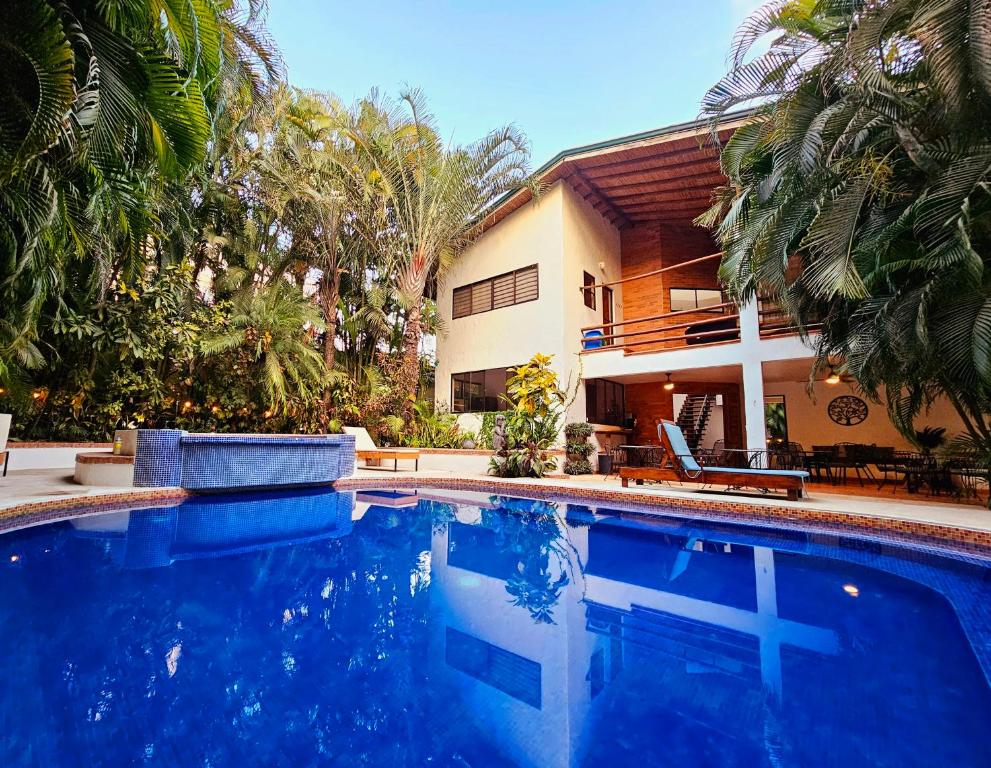
M713 314L718 313L718 314ZM740 340L740 316L731 302L659 315L631 317L581 329L582 352L622 347L626 354L714 346Z

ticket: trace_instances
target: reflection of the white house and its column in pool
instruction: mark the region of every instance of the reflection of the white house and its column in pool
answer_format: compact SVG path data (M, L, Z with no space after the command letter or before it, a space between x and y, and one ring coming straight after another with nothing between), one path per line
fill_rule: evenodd
M624 667L656 680L669 661L700 686L718 673L719 687L698 691L703 709L718 711L720 695L733 695L734 706L749 697L759 709L763 690L780 691L782 644L838 650L835 632L778 617L772 550L625 526L617 519L567 529L571 562L585 572L572 568L553 624L534 622L511 601L507 580L519 556L500 549L493 530L454 522L435 531L433 661L444 660L467 711L525 765L579 764L603 715L600 694ZM549 565L567 569L553 558Z

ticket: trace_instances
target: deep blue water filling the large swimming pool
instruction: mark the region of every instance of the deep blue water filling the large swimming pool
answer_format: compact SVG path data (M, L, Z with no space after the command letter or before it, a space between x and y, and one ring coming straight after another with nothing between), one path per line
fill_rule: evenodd
M979 563L452 496L0 536L0 765L991 765Z

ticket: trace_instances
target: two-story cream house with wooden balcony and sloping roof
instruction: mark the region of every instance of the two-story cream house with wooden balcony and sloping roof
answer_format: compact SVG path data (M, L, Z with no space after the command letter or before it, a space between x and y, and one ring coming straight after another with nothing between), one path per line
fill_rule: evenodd
M544 191L500 200L438 292L435 397L465 426L504 409L506 369L541 352L581 379L568 418L598 425L600 445L656 443L675 418L700 447L909 447L850 382L827 372L810 393L812 350L787 320L720 289L719 248L693 224L725 182L707 126L570 149L537 176ZM931 417L959 424L948 405Z

